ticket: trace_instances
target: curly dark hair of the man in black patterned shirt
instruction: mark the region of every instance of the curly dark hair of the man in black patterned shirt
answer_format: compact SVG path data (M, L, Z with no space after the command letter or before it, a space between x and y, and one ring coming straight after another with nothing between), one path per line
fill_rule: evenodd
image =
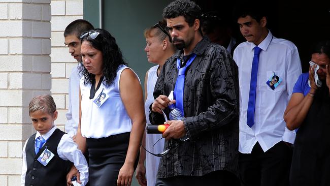
M201 8L189 0L176 0L165 7L162 13L165 19L183 16L189 26L193 25L195 19L201 20L201 15Z

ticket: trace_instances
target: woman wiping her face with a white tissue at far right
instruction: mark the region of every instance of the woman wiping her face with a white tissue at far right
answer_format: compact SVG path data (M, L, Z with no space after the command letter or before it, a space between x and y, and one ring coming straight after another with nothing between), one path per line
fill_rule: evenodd
M296 132L290 185L330 182L330 41L312 51L309 73L302 74L284 112L286 126ZM310 84L310 85L309 85Z

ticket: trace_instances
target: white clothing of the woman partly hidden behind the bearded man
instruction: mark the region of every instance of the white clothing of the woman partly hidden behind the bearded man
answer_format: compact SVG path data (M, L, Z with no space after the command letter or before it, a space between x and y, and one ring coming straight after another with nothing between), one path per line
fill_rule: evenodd
M147 99L144 104L144 109L146 113L147 125L150 125L149 120L149 106L155 101L153 98L153 90L155 88L155 84L157 81L157 69L159 65L151 67L148 71L148 81L147 81ZM160 123L159 123L160 124ZM154 153L159 153L163 151L164 148L164 138L161 138L161 134L147 134L146 133L146 148ZM157 143L156 141L159 140ZM154 143L156 143L155 146ZM155 185L156 175L158 170L160 158L155 157L152 154L146 152L146 176L147 176L147 184Z

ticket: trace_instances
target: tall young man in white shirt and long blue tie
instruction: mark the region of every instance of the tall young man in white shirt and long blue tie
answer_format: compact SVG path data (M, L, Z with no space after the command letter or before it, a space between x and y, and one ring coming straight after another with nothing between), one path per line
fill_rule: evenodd
M242 185L285 186L295 132L286 128L283 113L302 68L296 46L272 35L264 12L253 5L236 10L247 40L234 51L240 83L239 173ZM274 76L279 80L271 87L267 82Z

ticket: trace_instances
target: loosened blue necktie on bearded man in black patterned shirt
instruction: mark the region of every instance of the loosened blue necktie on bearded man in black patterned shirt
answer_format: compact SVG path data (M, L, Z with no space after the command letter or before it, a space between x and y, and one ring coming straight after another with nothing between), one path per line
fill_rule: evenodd
M174 87L174 99L176 101L175 106L176 108L180 109L182 112L182 116L184 116L183 113L183 90L184 90L184 77L185 77L185 72L187 68L190 66L192 63L193 59L195 59L196 54L192 53L189 60L187 61L187 64L181 68L181 61L178 58L177 59L177 68L179 70L178 72L178 78L175 83Z

